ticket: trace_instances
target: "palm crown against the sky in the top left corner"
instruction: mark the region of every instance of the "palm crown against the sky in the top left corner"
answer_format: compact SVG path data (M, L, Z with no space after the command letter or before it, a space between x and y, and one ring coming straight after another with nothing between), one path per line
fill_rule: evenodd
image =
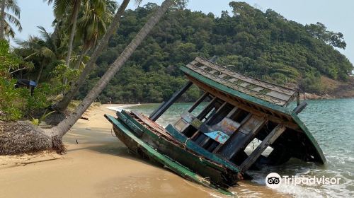
M11 11L6 12L6 10ZM0 20L0 39L4 39L5 35L8 37L15 37L15 31L11 27L11 23L22 31L22 26L19 21L21 8L18 7L16 0L1 0L1 20Z

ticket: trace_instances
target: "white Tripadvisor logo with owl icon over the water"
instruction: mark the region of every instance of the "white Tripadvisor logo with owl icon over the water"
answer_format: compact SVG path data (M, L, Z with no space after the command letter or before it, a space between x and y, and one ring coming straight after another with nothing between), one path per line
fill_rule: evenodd
M282 175L282 177L278 173L269 173L267 177L265 177L265 185L270 188L278 188L281 184L284 185L338 185L339 177L297 177L297 176L288 176Z

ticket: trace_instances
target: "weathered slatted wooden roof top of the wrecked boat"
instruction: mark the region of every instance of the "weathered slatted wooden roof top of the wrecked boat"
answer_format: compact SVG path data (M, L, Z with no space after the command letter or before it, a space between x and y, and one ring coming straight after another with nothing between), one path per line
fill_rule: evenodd
M246 93L254 98L265 100L275 105L286 106L298 94L295 89L246 76L228 69L227 66L215 64L202 57L196 57L193 62L190 62L185 67L235 91Z

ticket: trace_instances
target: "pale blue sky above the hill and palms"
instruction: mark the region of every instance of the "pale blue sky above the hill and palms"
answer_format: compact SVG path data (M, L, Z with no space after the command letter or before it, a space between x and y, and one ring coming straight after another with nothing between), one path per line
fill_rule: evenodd
M143 0L161 4L163 0ZM220 16L222 11L229 11L229 2L232 0L189 0L187 8L192 11L214 13ZM341 32L347 43L346 50L339 50L345 54L350 62L354 63L354 1L353 0L244 0L251 6L262 11L268 8L280 13L288 20L297 21L302 24L321 22L326 25L327 30ZM118 1L121 3L121 1ZM43 26L47 31L52 31L54 19L52 6L48 6L43 0L18 0L21 8L21 24L23 30L16 33L16 38L25 40L28 35L38 35L37 26ZM132 1L128 8L134 9L137 5ZM13 43L13 42L11 42Z

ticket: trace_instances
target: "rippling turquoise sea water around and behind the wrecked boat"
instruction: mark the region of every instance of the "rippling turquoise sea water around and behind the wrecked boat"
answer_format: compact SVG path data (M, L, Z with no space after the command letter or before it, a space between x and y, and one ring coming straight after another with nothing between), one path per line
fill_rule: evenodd
M309 105L299 117L324 151L326 164L304 163L292 159L284 165L252 171L250 174L254 179L251 185L265 185L265 176L272 172L299 177L338 177L341 178L339 185L281 185L277 190L294 197L354 197L354 99L307 100L307 103ZM159 118L159 124L166 126L176 122L190 105L191 103L176 103L171 106ZM159 104L139 105L127 110L149 115L158 106Z

